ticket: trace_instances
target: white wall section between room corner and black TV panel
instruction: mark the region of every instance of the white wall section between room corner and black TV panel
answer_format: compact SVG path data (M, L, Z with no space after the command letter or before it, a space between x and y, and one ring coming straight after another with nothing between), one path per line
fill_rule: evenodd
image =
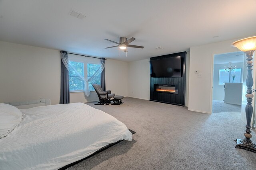
M129 63L128 96L149 100L150 96L150 59Z

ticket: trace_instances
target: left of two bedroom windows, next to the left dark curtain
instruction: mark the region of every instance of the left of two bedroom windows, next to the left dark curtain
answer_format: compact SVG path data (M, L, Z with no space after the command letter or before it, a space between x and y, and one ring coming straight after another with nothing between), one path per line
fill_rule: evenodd
M76 71L84 76L84 63L70 61L70 64L74 66ZM82 91L84 90L84 81L76 75L74 70L69 71L69 90L70 91Z

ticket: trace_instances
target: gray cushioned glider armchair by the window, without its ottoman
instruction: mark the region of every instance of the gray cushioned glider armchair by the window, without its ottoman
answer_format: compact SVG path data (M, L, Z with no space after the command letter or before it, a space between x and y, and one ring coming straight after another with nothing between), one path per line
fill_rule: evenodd
M98 94L98 98L100 100L100 103L98 105L109 105L109 103L112 101L111 98L113 98L115 94L112 94L111 90L103 91L101 86L98 84L92 84L92 86Z

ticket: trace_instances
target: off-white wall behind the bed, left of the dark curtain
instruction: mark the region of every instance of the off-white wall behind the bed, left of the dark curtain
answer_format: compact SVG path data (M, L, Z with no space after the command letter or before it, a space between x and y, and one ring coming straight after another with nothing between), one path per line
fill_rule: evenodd
M0 102L60 101L60 52L0 41Z

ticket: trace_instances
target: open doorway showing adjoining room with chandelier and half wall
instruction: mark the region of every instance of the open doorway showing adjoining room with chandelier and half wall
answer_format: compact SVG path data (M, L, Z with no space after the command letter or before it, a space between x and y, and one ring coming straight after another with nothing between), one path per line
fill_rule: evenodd
M214 55L212 113L241 114L244 52Z

